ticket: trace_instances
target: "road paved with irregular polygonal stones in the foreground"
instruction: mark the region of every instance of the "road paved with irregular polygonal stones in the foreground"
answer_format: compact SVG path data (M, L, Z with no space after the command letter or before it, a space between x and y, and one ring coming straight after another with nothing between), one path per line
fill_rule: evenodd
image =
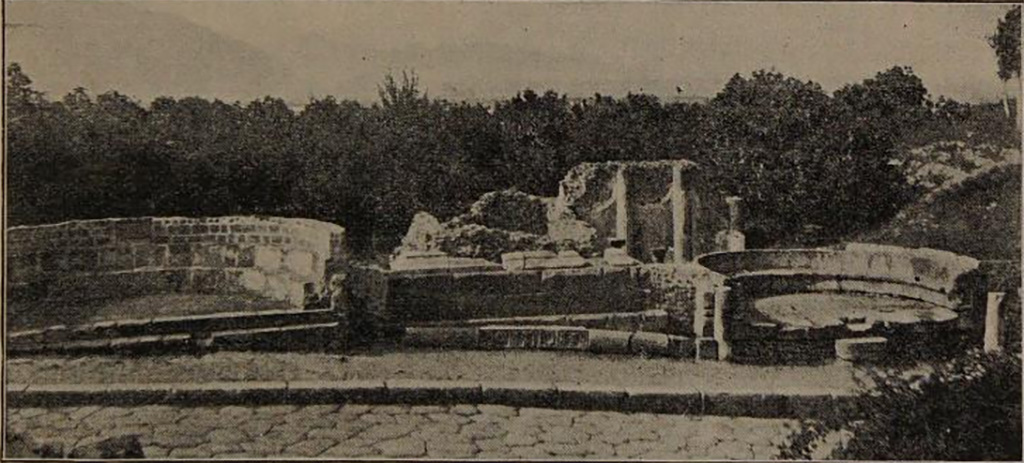
M8 432L73 448L137 434L147 458L771 459L793 420L500 406L11 409Z

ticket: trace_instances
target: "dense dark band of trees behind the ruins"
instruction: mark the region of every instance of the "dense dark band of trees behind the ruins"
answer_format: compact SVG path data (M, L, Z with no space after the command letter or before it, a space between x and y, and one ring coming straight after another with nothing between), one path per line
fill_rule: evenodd
M371 106L302 109L76 89L51 100L7 70L9 224L141 215L266 214L340 223L366 254L413 214L441 218L507 187L554 196L588 161L686 158L746 199L755 246L842 237L913 199L901 156L941 139L1017 143L997 104L933 101L909 69L833 94L773 72L708 103L646 94L570 100L525 90L490 106L426 97L388 76Z

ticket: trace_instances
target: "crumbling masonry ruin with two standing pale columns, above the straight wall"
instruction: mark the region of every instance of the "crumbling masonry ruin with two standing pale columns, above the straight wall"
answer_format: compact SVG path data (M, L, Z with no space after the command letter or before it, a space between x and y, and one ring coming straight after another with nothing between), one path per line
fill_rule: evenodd
M682 263L741 247L738 211L737 200L707 187L689 161L585 163L566 174L556 198L507 190L483 195L445 222L418 213L391 268L488 268L512 252L567 262Z

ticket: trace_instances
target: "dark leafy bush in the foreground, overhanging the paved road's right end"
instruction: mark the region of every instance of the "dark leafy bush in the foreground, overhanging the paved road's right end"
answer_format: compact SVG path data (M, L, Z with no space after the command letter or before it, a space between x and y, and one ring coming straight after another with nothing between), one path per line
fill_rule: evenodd
M1021 360L971 352L924 377L872 371L860 395L862 420L830 416L805 423L781 458L821 458L831 432L851 436L837 460L1021 460Z

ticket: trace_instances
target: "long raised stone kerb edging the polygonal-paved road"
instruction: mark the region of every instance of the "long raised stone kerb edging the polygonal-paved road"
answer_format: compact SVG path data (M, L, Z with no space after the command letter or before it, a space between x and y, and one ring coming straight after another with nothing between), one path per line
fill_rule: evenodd
M627 413L818 418L859 415L860 398L831 391L750 392L552 382L346 380L209 383L8 384L8 407L177 405L502 405Z

